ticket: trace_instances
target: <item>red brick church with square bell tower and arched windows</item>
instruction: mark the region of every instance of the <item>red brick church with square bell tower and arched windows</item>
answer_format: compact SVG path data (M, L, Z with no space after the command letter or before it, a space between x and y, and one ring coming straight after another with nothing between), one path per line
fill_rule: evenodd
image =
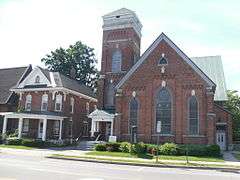
M140 53L142 24L122 8L103 16L98 109L91 134L131 142L232 143L220 56L188 57L164 33ZM159 127L157 127L159 126Z

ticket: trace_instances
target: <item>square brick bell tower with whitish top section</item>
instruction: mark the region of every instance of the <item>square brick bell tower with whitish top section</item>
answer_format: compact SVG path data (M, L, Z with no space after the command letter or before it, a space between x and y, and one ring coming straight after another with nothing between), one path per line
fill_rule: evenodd
M103 16L99 106L114 109L114 87L140 57L142 24L134 11L122 8Z

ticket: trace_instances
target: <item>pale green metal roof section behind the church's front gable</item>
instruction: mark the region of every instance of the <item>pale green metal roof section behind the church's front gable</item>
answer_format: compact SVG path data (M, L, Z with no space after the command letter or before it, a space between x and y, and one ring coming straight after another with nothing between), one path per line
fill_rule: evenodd
M227 88L221 56L192 57L191 60L217 85L214 100L226 101Z

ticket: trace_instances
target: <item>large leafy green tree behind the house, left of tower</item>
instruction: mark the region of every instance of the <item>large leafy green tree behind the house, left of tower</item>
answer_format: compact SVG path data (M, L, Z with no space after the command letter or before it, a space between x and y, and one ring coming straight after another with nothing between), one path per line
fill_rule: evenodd
M97 60L94 49L83 44L81 41L77 41L67 49L60 47L55 51L51 51L41 61L45 63L50 71L60 72L92 89L96 88L99 76L96 68ZM71 75L73 70L75 77Z

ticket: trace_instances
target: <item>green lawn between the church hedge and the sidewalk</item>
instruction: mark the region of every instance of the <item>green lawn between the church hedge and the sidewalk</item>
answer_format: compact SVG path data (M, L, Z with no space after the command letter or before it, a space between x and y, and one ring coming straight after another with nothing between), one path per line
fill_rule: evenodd
M111 156L111 157L127 157L127 158L143 158L143 159L153 159L154 157L151 155L132 155L129 153L122 152L107 152L107 151L91 151L86 153L86 155L92 156ZM189 161L204 161L204 162L224 162L222 157L213 158L213 157L197 157L197 156L189 156ZM160 155L159 160L186 160L186 156L165 156Z

